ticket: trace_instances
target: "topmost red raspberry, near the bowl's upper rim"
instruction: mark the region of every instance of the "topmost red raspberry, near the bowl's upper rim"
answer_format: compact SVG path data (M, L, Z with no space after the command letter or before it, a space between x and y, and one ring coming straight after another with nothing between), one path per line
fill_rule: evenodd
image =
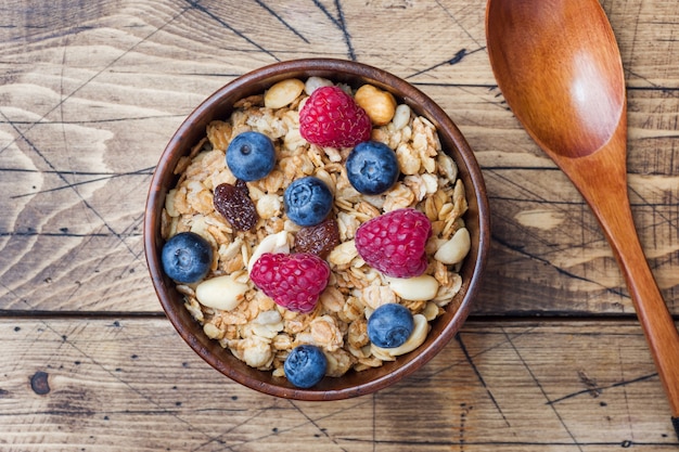
M340 87L316 89L299 111L299 133L323 147L354 147L370 140L370 117Z

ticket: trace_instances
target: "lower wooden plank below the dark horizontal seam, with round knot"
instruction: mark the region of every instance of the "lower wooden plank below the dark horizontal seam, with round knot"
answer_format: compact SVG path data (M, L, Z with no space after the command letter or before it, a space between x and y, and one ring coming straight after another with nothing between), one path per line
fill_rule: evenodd
M471 322L373 396L292 402L241 387L169 323L3 319L4 451L641 451L677 439L635 323Z

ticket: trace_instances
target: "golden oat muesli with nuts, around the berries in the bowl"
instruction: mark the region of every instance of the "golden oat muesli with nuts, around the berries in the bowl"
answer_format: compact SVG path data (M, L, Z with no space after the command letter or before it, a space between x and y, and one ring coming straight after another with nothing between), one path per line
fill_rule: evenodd
M398 178L385 192L360 193L350 183L346 163L354 146L322 146L303 138L299 112L315 90L328 86L340 87L356 100L371 119L369 139L386 144L396 156ZM208 337L249 366L276 376L284 376L285 360L299 345L321 349L324 374L333 377L395 360L424 341L430 321L444 312L462 284L459 269L470 236L462 218L467 208L465 191L456 163L441 151L432 122L385 91L358 88L317 77L290 79L241 100L230 117L209 124L205 138L182 157L175 169L179 181L166 196L163 237L191 231L214 251L205 277L177 283L185 308ZM274 166L265 177L244 182L227 165L226 152L247 131L271 139ZM287 215L285 189L307 177L322 181L332 195L326 217L334 221L329 227L336 234L332 240L325 232L307 234L308 228ZM239 220L230 221L216 209L216 192L225 184L229 193L252 201L251 229L235 228ZM431 227L424 270L412 277L388 276L358 253L357 231L371 219L413 209ZM251 279L261 256L295 254L303 242L311 247L330 244L311 251L330 271L309 312L278 305ZM413 319L412 333L390 348L376 346L368 335L368 319L387 304L406 307Z

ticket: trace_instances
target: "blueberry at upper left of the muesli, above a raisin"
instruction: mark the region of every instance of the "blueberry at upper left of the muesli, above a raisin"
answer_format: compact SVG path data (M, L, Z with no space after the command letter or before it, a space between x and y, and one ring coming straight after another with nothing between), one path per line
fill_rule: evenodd
M233 176L246 182L261 179L276 165L273 142L264 133L240 133L229 143L227 165Z

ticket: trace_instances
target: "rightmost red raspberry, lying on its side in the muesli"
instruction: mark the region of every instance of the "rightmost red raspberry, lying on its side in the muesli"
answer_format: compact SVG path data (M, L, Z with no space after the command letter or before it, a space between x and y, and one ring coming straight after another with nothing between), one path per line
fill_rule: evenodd
M387 276L419 276L426 270L424 250L432 223L415 209L398 209L375 217L356 231L361 258Z

